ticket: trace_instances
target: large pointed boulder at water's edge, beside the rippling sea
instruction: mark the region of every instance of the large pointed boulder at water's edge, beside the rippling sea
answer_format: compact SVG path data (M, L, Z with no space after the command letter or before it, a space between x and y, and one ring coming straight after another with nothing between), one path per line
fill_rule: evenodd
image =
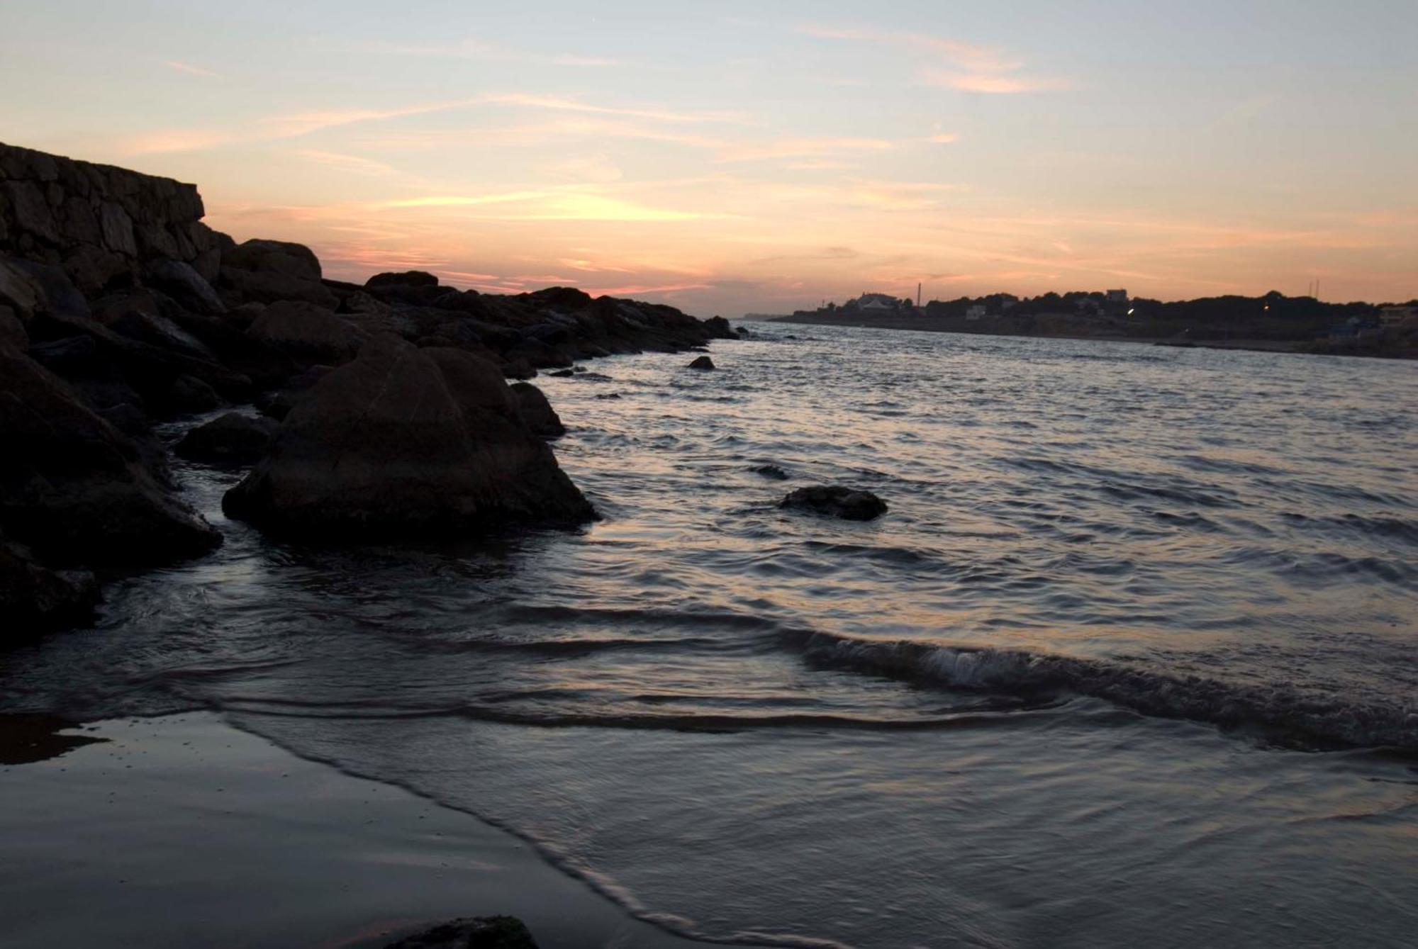
M269 533L323 540L596 517L495 365L391 334L316 384L223 508Z

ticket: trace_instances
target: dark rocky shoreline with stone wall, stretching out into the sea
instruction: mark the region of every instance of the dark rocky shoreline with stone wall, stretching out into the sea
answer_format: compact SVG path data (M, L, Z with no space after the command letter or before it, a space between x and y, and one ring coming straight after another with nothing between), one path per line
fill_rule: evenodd
M523 380L736 339L573 288L328 280L309 248L237 244L203 212L196 186L0 144L7 637L79 625L106 578L221 542L177 496L156 422L258 405L271 425L227 419L187 458L254 463L225 507L284 535L577 524L596 514L546 445L564 429Z

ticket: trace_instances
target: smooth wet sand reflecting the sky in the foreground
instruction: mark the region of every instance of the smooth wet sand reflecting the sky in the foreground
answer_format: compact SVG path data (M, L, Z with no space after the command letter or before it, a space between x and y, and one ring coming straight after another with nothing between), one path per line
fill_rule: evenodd
M6 946L381 946L495 914L520 916L543 948L702 945L476 817L217 714L54 725L0 717ZM34 761L40 748L57 756Z

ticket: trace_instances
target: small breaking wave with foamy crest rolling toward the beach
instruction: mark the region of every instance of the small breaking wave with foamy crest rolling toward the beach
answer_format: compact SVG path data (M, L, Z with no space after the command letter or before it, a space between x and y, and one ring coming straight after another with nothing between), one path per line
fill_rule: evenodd
M1307 695L1288 686L1242 686L1170 676L1116 661L1015 649L861 640L810 633L797 642L818 666L1025 698L1072 693L1144 715L1259 729L1305 749L1394 748L1418 752L1418 707Z

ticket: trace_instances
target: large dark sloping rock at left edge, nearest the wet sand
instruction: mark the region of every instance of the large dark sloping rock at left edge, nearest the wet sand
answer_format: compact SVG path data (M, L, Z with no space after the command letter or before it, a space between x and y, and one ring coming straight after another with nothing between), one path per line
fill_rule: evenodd
M221 534L169 496L133 442L52 373L0 348L0 531L60 567L196 557Z

